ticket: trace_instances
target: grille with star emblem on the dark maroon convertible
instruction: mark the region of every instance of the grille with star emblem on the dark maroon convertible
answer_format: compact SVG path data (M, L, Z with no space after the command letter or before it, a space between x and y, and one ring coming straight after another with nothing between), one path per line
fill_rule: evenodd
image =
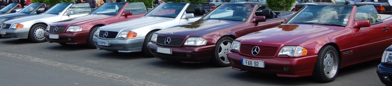
M181 46L182 42L184 41L184 38L181 37L170 37L170 43L165 44L165 39L169 36L163 36L163 35L158 35L158 38L156 39L156 43L158 45L163 45L163 46Z

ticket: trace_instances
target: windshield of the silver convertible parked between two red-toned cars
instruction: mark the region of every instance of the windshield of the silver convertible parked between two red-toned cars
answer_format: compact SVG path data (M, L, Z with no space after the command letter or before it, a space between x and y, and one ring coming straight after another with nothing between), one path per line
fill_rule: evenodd
M175 18L184 9L186 3L164 3L158 5L145 17L171 17Z

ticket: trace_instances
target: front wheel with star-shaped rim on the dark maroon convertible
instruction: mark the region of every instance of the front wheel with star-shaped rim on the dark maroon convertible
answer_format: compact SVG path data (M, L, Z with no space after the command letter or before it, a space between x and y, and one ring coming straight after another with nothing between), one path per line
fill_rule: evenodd
M227 59L227 53L230 51L231 43L234 39L231 37L222 37L215 45L214 55L211 58L211 63L218 67L229 67L230 62ZM220 56L221 53L221 56Z

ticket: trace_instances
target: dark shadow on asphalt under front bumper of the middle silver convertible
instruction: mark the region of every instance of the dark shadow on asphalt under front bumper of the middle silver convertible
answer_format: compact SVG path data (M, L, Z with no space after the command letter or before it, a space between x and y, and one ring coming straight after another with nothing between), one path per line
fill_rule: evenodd
M103 51L103 50L101 50ZM104 51L104 52L99 52L97 54L94 54L95 57L98 58L105 58L105 59L122 59L122 60L132 60L132 59L142 59L142 58L148 58L146 57L142 52L109 52L109 51Z

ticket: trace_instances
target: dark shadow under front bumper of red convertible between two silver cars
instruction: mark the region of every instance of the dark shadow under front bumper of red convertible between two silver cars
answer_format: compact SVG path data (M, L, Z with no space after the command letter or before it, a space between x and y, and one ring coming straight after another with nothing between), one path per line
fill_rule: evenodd
M58 43L50 43L49 45L52 45L52 46L46 47L46 49L56 50L56 51L79 51L79 50L91 50L92 49L85 44L62 46Z

